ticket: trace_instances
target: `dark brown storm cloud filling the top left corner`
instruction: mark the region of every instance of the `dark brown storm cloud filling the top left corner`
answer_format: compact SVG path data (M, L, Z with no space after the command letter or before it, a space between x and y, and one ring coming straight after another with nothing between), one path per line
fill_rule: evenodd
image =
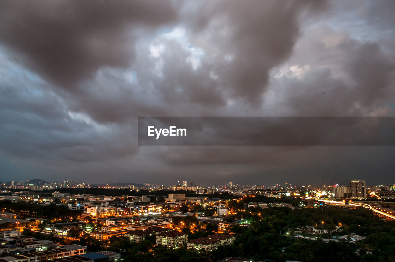
M176 16L169 1L3 1L0 41L31 70L72 89L102 66L132 64L137 26L150 31Z

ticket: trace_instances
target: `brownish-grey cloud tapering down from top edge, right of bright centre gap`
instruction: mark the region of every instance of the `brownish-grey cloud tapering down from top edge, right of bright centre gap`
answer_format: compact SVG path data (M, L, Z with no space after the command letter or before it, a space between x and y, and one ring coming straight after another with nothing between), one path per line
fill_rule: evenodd
M299 35L300 14L317 11L324 1L205 2L192 24L193 43L206 38L207 60L218 75L218 86L230 97L256 106L265 91L269 70L291 54ZM195 11L195 10L194 10ZM187 13L189 15L189 13ZM192 22L195 20L191 19ZM209 61L205 60L207 64ZM207 66L207 65L206 65Z

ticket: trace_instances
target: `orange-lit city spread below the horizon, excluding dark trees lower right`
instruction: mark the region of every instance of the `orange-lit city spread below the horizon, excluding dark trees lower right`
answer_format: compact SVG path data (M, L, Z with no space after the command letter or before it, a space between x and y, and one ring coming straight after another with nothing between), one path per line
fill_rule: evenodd
M366 193L361 195L361 189ZM91 186L34 179L4 183L1 190L0 261L134 261L130 255L134 251L120 249L120 243L153 256L185 249L187 256L204 261L220 258L221 252L240 243L243 234L260 223L281 225L273 230L288 244L278 247L277 259L300 259L298 252L290 251L297 241L355 245L357 256L362 257L376 252L375 245L363 233L368 225L362 225L363 230L357 225L355 230L352 216L362 212L375 223L395 222L395 184L366 186L365 181L321 187L233 182L194 186L186 181L171 186ZM291 216L292 225L275 222L273 212L302 213L304 219ZM353 213L347 218L331 216L333 212ZM166 249L159 251L159 247Z

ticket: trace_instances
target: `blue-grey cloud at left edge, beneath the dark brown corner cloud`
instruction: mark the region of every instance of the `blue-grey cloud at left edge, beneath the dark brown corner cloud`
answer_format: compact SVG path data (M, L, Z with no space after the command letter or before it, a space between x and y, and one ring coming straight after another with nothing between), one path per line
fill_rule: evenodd
M12 61L4 62L10 71L0 72L2 152L37 162L98 161L137 153L130 124L92 123L84 114L68 110L65 97L47 83L21 73Z

